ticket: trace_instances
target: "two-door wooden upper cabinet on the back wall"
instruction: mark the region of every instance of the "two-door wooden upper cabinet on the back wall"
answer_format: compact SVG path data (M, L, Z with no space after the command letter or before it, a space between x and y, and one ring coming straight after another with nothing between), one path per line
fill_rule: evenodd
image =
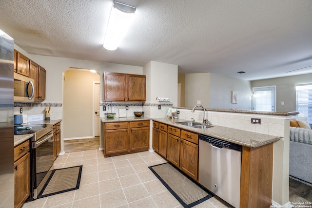
M104 72L103 101L145 101L146 76Z

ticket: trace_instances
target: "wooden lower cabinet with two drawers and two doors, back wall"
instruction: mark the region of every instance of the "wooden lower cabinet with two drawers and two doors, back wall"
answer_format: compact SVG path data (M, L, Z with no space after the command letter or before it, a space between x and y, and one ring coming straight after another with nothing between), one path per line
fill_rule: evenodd
M147 151L150 121L103 123L104 156Z

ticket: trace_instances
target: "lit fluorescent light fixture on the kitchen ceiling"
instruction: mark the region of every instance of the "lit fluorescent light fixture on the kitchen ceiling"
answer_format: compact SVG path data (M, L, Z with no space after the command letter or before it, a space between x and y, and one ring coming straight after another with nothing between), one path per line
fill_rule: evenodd
M114 51L131 24L136 7L114 1L104 38L104 48Z

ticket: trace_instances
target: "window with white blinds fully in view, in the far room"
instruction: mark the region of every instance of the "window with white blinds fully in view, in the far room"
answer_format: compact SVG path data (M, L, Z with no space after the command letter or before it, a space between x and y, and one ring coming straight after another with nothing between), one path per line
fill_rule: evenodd
M253 111L275 112L276 86L253 87Z

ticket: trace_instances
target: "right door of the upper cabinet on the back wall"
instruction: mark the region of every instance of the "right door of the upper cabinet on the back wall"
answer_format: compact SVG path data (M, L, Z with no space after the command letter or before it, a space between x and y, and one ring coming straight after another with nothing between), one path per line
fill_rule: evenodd
M127 75L127 101L145 101L146 76Z

